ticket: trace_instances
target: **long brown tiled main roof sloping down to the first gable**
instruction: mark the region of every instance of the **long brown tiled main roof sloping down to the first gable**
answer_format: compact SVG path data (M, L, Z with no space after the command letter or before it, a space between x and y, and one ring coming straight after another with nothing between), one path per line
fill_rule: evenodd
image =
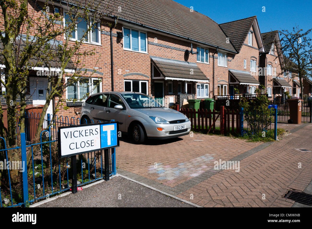
M78 0L70 1L79 2ZM236 52L232 44L226 42L227 37L217 22L172 0L114 0L107 2L111 4L110 9L114 9L112 14L119 17L119 22L129 20L142 27L152 27L160 32L173 33L193 41Z

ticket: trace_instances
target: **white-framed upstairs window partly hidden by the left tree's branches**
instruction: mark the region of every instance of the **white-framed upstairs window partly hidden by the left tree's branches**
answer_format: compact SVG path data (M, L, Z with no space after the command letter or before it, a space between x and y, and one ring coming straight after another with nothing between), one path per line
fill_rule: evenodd
M84 36L85 32L89 29L89 27L92 25L94 22L93 18L89 18L89 23L79 17L77 19L77 25L76 29L68 34L65 34L65 38L69 37L70 40L72 41L80 41L82 37ZM69 22L71 22L71 18L69 17L68 14L65 14L64 16L64 26L68 26ZM86 43L96 43L100 44L100 23L95 22L93 27L91 28L90 32L84 37Z

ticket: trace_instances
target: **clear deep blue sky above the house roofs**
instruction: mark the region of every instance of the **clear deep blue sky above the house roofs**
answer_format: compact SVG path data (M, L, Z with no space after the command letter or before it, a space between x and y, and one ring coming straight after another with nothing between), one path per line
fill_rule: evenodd
M257 16L261 33L272 30L292 30L296 24L304 31L312 28L312 1L210 1L210 0L175 0L194 10L207 15L217 23L235 21ZM262 7L266 12L262 12ZM312 34L310 35L312 37Z

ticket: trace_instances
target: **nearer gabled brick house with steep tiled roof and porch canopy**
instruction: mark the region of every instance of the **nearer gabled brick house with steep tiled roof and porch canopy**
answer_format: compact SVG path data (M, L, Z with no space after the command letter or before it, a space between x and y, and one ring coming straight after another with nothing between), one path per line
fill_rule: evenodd
M255 94L260 85L259 52L264 52L257 17L223 23L220 27L237 51L229 56L229 95L235 94L234 88L241 94Z

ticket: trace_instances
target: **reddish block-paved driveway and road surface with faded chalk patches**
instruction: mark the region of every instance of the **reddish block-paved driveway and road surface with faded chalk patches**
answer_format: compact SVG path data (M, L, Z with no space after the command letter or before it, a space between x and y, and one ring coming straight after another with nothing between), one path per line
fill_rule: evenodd
M195 133L143 145L121 138L117 172L203 207L308 207L283 196L311 192L312 152L295 148L312 151L312 124L283 127L291 134L266 143ZM239 162L239 172L215 169L220 159Z

